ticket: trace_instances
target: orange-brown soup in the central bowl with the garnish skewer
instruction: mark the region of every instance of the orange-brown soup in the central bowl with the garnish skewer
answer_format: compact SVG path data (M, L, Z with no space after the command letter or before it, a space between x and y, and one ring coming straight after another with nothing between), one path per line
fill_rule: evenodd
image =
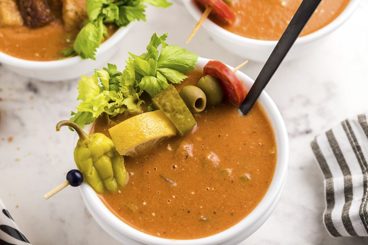
M177 87L197 84L192 71ZM275 137L257 103L247 116L222 104L194 114L197 127L144 154L125 156L129 181L99 197L125 223L170 239L209 236L247 216L265 195L276 165ZM124 120L112 118L110 126ZM104 117L93 132L109 136Z

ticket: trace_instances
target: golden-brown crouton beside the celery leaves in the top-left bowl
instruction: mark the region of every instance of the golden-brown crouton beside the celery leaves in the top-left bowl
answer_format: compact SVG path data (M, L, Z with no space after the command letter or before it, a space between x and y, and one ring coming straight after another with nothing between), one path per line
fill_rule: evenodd
M67 31L78 29L88 19L86 0L63 0L63 21Z

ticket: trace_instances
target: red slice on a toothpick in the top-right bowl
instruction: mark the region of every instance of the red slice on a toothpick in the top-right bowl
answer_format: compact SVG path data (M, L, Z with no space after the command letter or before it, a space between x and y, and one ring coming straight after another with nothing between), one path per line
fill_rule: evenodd
M203 7L211 7L212 12L226 24L232 25L235 22L235 14L223 0L196 0Z

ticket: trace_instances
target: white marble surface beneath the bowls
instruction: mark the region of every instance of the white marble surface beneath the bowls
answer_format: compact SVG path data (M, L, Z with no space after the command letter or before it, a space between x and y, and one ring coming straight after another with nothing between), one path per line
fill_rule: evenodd
M122 70L127 52L142 53L153 32L169 32L168 43L202 57L243 62L205 30L185 45L194 25L179 0L166 10L149 7L147 22L135 23L110 62ZM255 79L262 65L249 62L241 71ZM77 106L77 82L42 82L0 66L0 198L32 244L118 244L90 217L77 188L43 199L72 166L74 133L56 132L55 125ZM325 230L323 178L309 144L333 124L368 112L368 2L324 46L283 63L266 91L289 133L289 173L273 214L241 244L367 244L368 238L332 238Z

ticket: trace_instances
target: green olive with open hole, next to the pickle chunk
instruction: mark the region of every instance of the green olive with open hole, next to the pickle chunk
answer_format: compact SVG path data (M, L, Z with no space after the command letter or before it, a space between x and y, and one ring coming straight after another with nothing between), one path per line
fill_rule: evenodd
M181 89L179 95L192 113L202 112L206 107L206 95L199 87L185 86Z

